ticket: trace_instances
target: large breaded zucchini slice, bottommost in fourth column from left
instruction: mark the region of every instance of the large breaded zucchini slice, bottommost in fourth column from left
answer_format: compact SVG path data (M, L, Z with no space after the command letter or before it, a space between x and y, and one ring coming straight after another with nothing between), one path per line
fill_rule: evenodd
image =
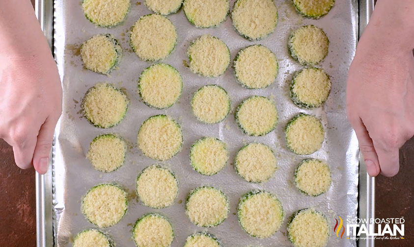
M279 199L261 190L253 190L240 198L237 215L243 230L255 238L269 238L283 222Z

